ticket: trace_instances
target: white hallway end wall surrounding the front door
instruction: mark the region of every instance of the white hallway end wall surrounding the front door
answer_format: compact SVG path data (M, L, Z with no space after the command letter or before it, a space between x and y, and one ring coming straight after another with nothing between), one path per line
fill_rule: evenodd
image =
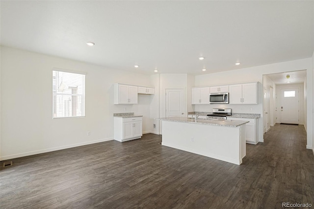
M283 84L283 85L276 85L276 95L277 95L277 109L280 110L280 100L281 100L281 89L285 88L299 88L299 124L305 125L304 123L304 83L295 83L295 84ZM280 113L280 111L279 111ZM277 116L278 121L281 121L281 115L278 114Z

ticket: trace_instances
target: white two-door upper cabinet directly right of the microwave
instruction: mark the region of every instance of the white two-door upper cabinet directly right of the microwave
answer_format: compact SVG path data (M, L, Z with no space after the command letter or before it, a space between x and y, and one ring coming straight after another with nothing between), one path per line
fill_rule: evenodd
M257 82L229 85L229 104L257 104Z

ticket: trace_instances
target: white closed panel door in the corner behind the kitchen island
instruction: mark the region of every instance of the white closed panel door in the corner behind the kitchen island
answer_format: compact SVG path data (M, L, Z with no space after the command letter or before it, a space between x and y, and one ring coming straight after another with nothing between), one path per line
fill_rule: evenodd
M166 89L166 117L185 116L184 89Z

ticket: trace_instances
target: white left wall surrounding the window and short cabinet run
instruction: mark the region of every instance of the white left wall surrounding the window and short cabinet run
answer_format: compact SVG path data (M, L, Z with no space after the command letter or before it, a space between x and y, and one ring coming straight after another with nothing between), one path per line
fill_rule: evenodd
M118 112L143 115L143 132L152 130L153 96L113 104L113 83L153 86L150 76L8 47L1 47L0 65L1 160L111 140ZM52 119L52 68L87 73L84 118Z

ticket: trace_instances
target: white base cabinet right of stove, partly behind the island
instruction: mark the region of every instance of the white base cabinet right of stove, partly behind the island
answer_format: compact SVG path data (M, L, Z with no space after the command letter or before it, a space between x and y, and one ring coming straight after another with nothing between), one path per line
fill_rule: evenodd
M228 120L249 121L245 124L245 141L248 144L257 144L259 142L259 119L254 118L234 118L227 117Z

